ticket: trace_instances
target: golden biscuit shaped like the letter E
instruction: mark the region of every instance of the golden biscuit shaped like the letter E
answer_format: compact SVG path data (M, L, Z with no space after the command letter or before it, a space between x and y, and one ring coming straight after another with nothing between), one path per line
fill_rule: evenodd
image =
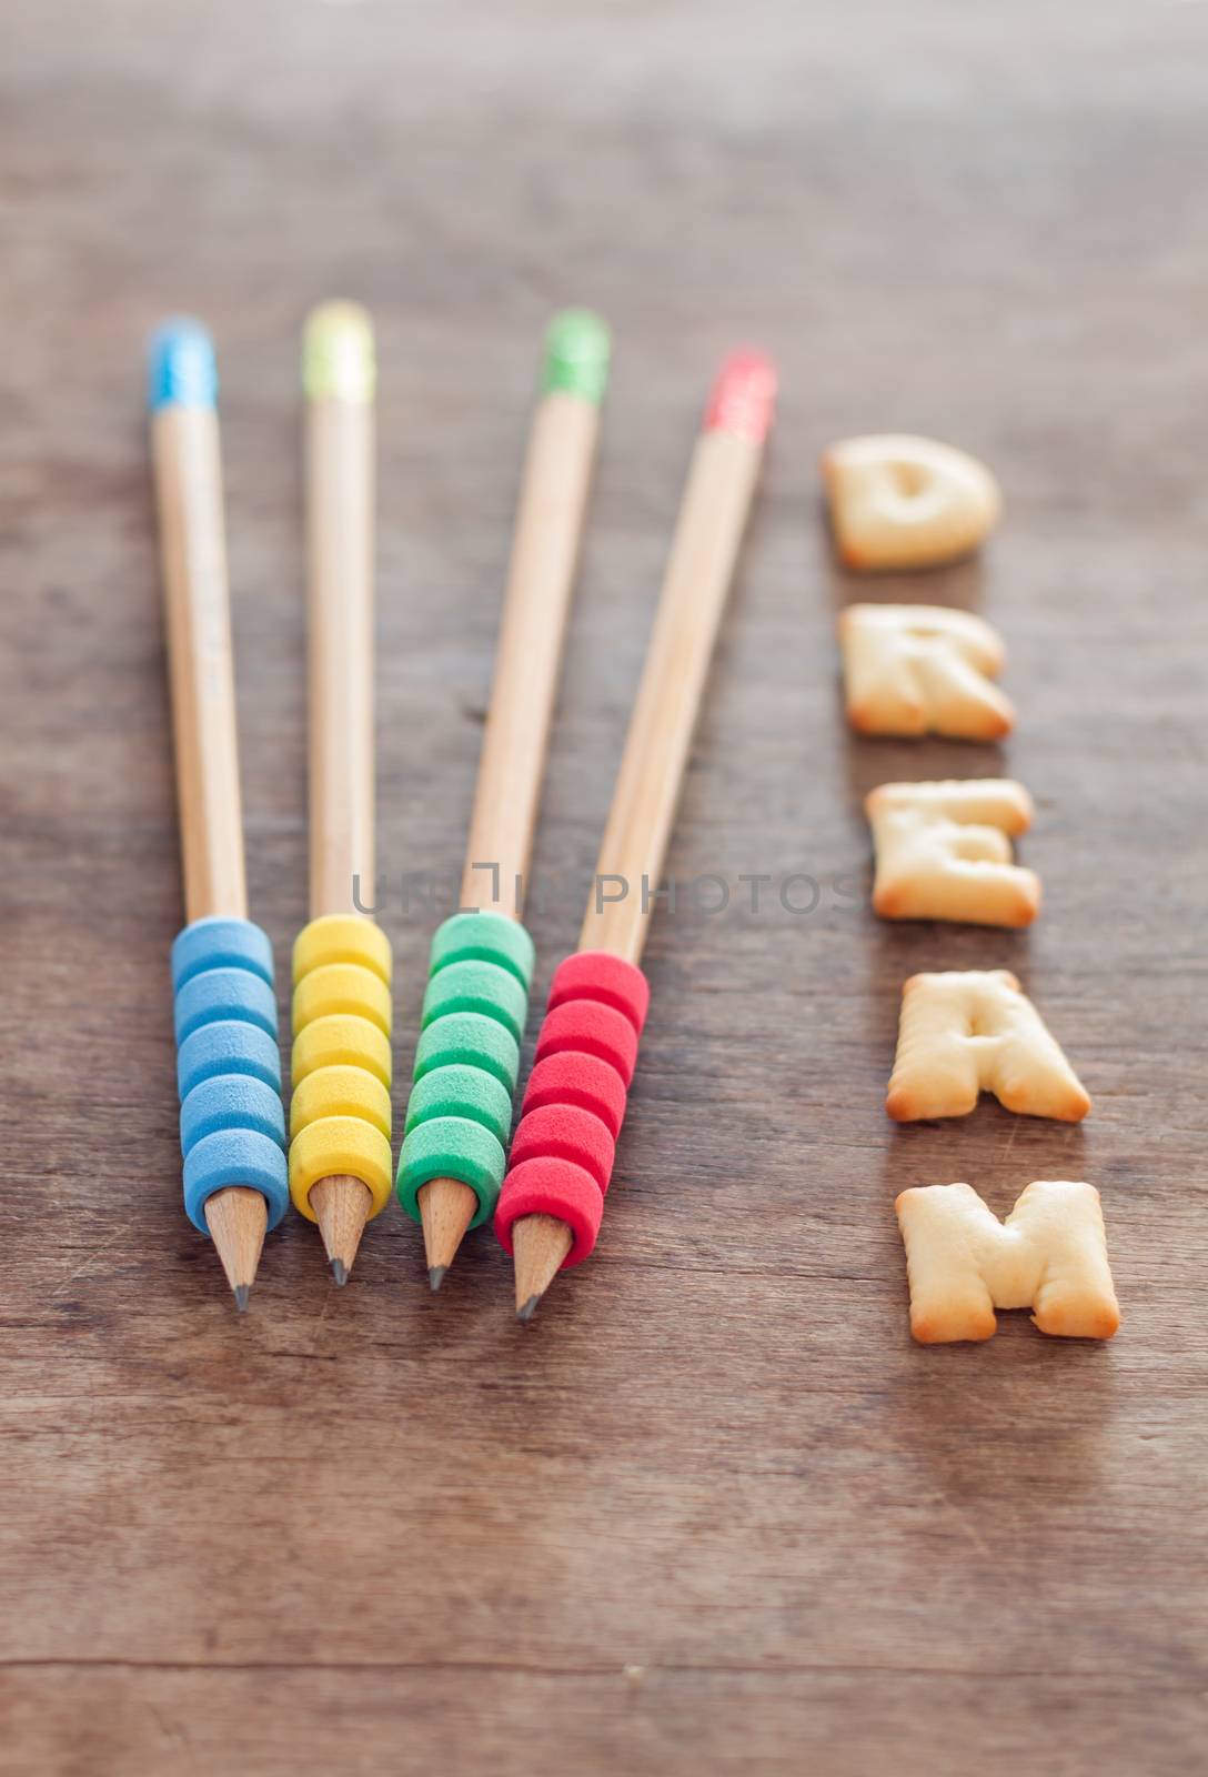
M1007 837L1032 825L1032 798L1021 784L881 784L863 807L876 848L872 906L881 919L1032 924L1041 880L1011 862Z

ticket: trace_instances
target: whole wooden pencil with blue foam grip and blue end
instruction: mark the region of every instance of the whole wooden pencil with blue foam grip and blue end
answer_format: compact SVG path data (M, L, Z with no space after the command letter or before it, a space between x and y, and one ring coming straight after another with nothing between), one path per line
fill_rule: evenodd
M247 919L217 373L206 331L151 341L187 926L172 945L185 1210L247 1308L288 1203L272 945Z

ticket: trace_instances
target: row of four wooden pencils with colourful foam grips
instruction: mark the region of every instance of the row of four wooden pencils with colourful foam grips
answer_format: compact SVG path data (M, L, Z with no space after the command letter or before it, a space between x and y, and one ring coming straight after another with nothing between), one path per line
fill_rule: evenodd
M151 347L151 442L167 604L185 929L172 947L185 1208L247 1306L290 1205L338 1285L391 1198L423 1226L432 1288L485 1223L528 1320L592 1253L648 986L640 968L680 780L773 416L775 371L737 354L696 441L579 949L552 976L512 1128L535 947L522 892L608 384L586 311L545 338L521 485L460 908L433 935L403 1143L391 1144L391 945L375 883L375 347L364 309L304 334L309 924L293 949L282 1102L272 945L247 908L222 517L206 331ZM609 888L604 892L602 885Z

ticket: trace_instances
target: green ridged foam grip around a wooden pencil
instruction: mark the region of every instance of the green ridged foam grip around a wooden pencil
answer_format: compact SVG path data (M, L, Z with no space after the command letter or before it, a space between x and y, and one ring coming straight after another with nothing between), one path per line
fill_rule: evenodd
M398 1199L414 1221L433 1178L471 1187L471 1228L496 1207L531 979L533 940L506 913L455 913L432 940L398 1159Z

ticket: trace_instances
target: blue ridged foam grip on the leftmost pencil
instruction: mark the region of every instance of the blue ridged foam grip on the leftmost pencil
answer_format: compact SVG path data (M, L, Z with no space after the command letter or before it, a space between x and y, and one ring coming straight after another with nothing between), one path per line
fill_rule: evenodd
M210 1233L206 1198L250 1185L274 1228L290 1191L272 945L247 919L195 919L172 945L172 988L185 1212Z

